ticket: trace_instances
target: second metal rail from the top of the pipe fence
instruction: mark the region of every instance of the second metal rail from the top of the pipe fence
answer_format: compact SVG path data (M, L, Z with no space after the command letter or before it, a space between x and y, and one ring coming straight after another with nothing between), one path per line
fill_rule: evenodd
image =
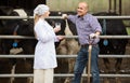
M65 38L75 38L77 39L78 36L64 36ZM130 39L130 36L99 36L101 39ZM35 39L35 37L27 37L27 36L0 36L0 39Z

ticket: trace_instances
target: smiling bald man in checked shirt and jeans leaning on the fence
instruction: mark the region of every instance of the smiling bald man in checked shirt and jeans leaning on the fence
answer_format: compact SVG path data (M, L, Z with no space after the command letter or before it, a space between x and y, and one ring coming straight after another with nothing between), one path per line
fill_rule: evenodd
M75 69L74 69L74 80L73 83L80 83L81 74L83 72L84 67L88 61L88 49L89 44L92 44L91 52L91 73L92 73L92 82L100 83L100 72L98 67L98 56L99 56L99 45L100 41L99 36L102 32L102 28L98 18L88 13L88 3L79 2L77 9L77 15L66 15L63 14L64 18L72 20L77 28L79 43L81 44L81 49L78 53Z

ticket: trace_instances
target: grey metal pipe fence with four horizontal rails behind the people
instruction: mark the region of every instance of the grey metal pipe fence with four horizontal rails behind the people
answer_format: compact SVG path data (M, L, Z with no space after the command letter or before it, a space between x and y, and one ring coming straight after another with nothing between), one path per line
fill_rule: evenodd
M130 16L96 16L101 19L130 19ZM34 18L34 16L0 16L0 19L28 19ZM62 16L50 16L48 18L62 18ZM78 38L78 36L65 36L65 38ZM130 36L100 36L101 39L130 39ZM35 39L34 37L25 36L0 36L0 39ZM57 58L75 58L77 55L57 55ZM130 55L99 55L101 58L130 58ZM34 58L34 55L0 55L0 58ZM29 78L34 74L0 74L0 78ZM55 73L54 77L65 78L74 77L74 74L61 74ZM82 74L82 77L88 77L88 74ZM100 74L102 78L130 78L130 74Z

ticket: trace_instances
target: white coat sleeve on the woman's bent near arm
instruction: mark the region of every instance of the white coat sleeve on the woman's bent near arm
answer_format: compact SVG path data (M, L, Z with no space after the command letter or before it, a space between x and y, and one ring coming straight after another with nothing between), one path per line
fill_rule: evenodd
M55 40L56 37L55 33L49 31L47 29L47 26L44 26L43 24L36 25L35 31L36 31L37 40L40 40L42 42Z

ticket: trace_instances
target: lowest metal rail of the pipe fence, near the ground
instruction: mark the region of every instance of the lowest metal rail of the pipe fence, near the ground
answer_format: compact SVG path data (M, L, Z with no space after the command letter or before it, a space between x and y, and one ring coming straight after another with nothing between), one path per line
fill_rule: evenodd
M34 77L32 73L28 74L0 74L0 78L29 78ZM55 73L54 77L65 78L65 77L74 77L74 74L63 74L63 73ZM88 74L82 74L82 77L88 77ZM130 78L130 74L100 74L101 78Z

